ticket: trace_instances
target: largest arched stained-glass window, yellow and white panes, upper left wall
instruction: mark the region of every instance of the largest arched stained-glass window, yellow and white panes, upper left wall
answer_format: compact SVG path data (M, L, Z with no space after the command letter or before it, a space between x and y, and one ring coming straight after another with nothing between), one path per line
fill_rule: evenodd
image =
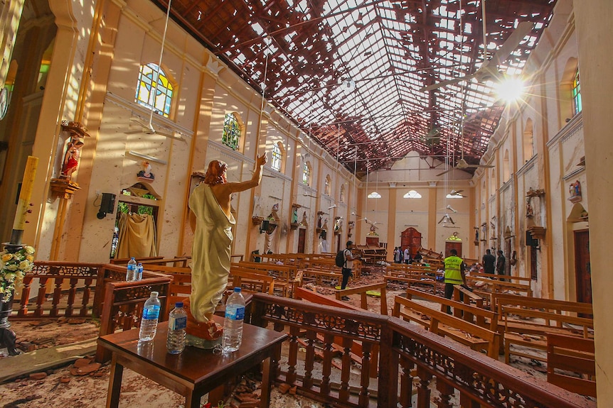
M134 101L149 109L153 107L157 114L167 118L170 114L172 95L173 86L161 67L151 63L141 65Z

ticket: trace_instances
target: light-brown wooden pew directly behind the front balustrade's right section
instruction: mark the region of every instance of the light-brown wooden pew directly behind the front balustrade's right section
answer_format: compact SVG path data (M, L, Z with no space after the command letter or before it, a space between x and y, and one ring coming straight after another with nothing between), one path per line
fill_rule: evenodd
M417 292L416 295L422 297L421 292ZM449 299L444 299L444 301L441 302L441 307L452 306L454 309L466 307L478 309ZM473 310L473 312L474 314L479 313L477 310ZM432 309L400 296L394 299L392 316L400 317L405 321L415 322L424 326L425 329L432 331L432 333L452 338L475 351L486 351L487 355L491 358L498 358L500 334L496 330L486 329L470 321L447 314L444 311Z

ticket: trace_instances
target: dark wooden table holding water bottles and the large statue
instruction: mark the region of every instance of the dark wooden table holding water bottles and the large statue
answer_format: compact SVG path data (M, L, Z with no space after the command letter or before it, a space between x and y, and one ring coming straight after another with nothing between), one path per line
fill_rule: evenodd
M223 323L219 316L215 316L215 320ZM124 367L183 395L186 408L199 408L200 399L207 392L260 363L264 363L260 407L268 407L271 361L279 358L281 343L287 334L245 324L242 345L234 353L214 354L210 350L186 346L183 353L172 355L166 351L167 331L168 322L160 323L154 340L140 345L138 330L98 338L98 343L112 352L107 408L119 406ZM219 395L219 391L216 390L215 395Z

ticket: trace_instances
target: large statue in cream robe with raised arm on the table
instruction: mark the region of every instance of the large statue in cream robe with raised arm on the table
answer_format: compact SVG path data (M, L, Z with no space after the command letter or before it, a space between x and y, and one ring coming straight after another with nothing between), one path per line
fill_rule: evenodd
M189 221L194 234L191 296L183 302L188 314L189 344L213 348L213 343L220 341L223 328L213 321L213 313L223 297L230 273L232 228L236 224L230 212L230 200L233 193L260 185L266 161L266 154L257 158L251 180L228 182L228 165L213 160L202 184L189 197Z

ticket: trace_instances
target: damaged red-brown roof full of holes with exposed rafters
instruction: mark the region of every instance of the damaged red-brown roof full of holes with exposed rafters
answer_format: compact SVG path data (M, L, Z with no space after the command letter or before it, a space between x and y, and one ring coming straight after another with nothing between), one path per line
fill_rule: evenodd
M461 157L479 163L504 108L492 87L521 74L554 6L174 0L171 17L332 157L363 173L412 150L452 165Z

